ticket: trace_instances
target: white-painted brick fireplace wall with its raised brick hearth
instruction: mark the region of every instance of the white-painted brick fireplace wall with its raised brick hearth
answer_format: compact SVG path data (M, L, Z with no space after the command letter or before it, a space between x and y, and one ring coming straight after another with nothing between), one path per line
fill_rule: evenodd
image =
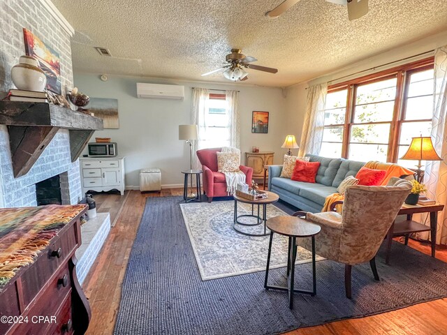
M24 54L23 28L41 38L59 54L62 94L65 94L67 88L71 89L73 87L71 37L75 31L50 0L2 1L0 27L2 33L0 34L0 99L6 96L9 89L13 88L10 70L17 64L19 57ZM52 109L50 107L45 108L47 110L48 108ZM20 112L22 112L22 109ZM35 109L34 112L45 111ZM29 119L36 115L42 116L42 114L33 114L33 110L27 115ZM59 201L61 204L76 204L82 197L79 161L76 159L78 156L73 155L73 145L71 144L75 144L75 149L81 149L83 141L73 140L71 137L75 136L71 135L82 133L84 129L99 128L88 128L88 126L85 128L85 123L79 128L73 128L70 119L73 116L70 111L68 111L68 114L59 115L64 115L64 117L60 117L58 120L57 128L59 130L57 133L54 131L55 135L52 133L54 137L51 141L49 143L45 142L43 147L40 146L40 142L36 143L36 147L40 148L38 149L39 155L33 156L36 151L30 152L28 150L29 146L25 146L25 149L20 151L24 156L34 157L34 160L38 157L36 161L33 160L32 165L17 164L16 156L14 158L11 156L10 134L13 130L8 128L14 125L10 123L0 125L0 207L28 207ZM73 118L82 119L80 117ZM29 122L29 119L26 121ZM71 128L61 125L63 121L71 124ZM6 124L9 126L6 126ZM18 126L29 125L19 124ZM43 126L48 126L48 124ZM54 123L50 122L50 126L54 126ZM17 143L17 138L14 136L12 138L13 142ZM32 138L34 139L34 137ZM80 137L76 138L79 139ZM14 152L17 152L17 147L15 147L15 150ZM74 162L72 162L72 156ZM28 170L29 166L31 168ZM26 169L23 173L14 174L14 168L24 167ZM17 177L14 177L15 175ZM48 195L47 187L51 188L52 186L56 188L56 196L51 195L51 192ZM41 195L45 196L41 198ZM82 225L82 246L76 251L78 258L76 272L80 283L87 276L109 231L110 215L108 213L99 213L96 218Z

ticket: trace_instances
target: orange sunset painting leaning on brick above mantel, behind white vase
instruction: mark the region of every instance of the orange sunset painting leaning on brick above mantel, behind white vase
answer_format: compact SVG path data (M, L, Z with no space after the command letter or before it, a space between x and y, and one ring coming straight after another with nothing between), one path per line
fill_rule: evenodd
M61 91L61 61L59 54L51 47L42 42L40 38L31 33L28 29L23 29L25 53L27 56L37 59L38 66L47 77L47 89L55 94L62 94Z

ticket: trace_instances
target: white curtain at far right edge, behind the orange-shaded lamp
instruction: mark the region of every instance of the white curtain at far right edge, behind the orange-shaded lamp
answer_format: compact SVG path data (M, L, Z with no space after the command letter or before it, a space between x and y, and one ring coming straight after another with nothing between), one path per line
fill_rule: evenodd
M447 206L447 45L434 54L433 98L432 142L444 161L427 162L424 181L428 188L427 197ZM430 218L426 224L430 224ZM424 236L421 235L419 237ZM447 244L447 208L438 214L437 244Z

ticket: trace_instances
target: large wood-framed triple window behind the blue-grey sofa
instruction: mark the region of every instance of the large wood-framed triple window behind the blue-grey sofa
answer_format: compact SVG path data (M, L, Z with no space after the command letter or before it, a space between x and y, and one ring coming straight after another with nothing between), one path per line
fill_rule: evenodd
M430 135L433 58L329 87L321 156L354 161L399 160L411 137Z

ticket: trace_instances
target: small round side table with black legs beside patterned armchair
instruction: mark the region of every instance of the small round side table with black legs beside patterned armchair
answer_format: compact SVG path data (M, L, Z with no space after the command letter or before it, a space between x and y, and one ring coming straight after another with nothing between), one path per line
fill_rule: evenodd
M288 292L289 307L293 308L293 293L306 293L309 295L316 295L316 276L315 276L315 235L321 230L319 225L309 222L304 218L297 216L276 216L269 218L267 227L272 231L270 235L270 242L268 244L267 267L265 268L264 288L281 290ZM288 257L287 257L287 288L281 286L268 285L268 270L270 267L270 253L272 252L273 233L284 235L288 237ZM297 237L312 237L312 282L313 290L295 290L293 288L293 281L295 280L295 260L296 260L296 238Z

